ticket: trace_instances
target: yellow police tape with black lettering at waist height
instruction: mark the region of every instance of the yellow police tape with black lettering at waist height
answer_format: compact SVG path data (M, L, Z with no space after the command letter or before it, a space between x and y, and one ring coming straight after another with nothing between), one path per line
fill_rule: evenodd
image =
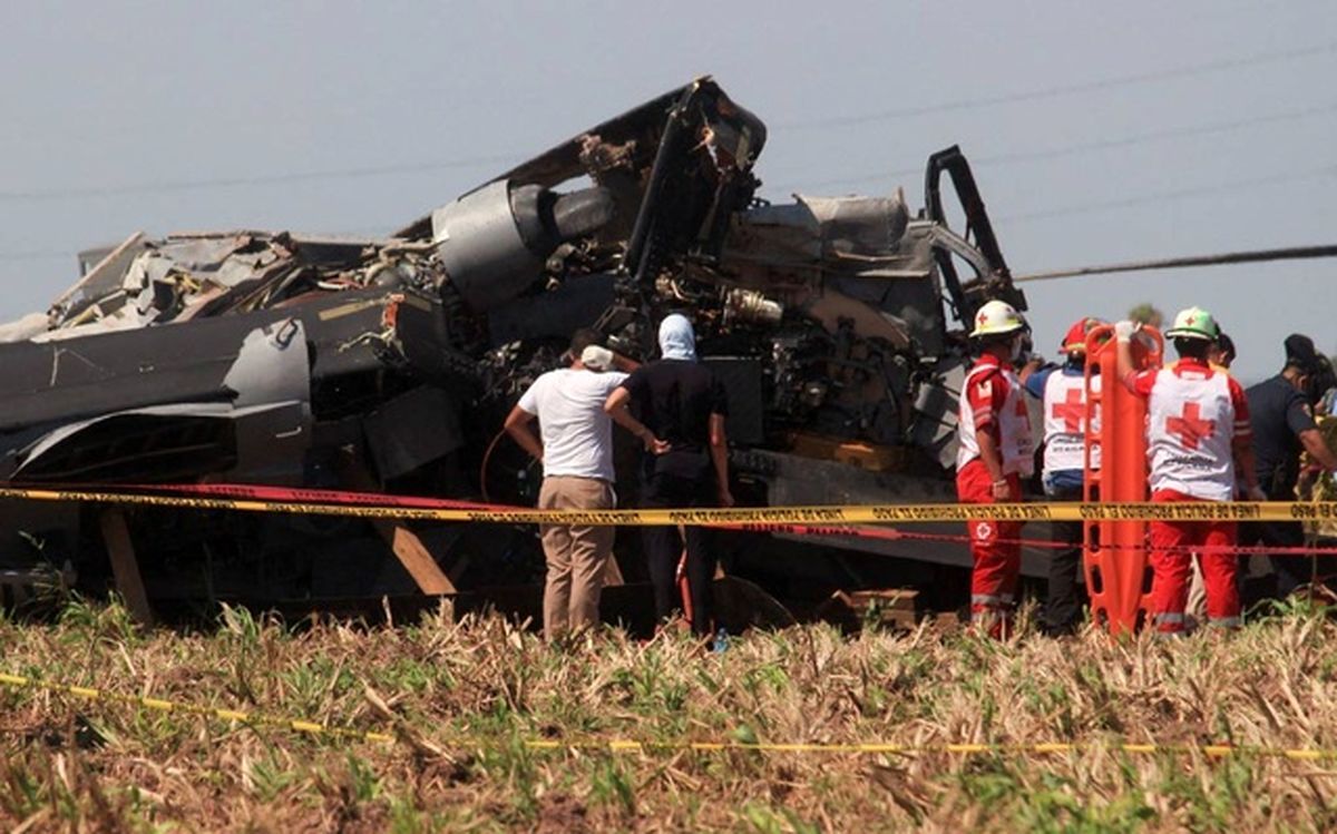
M0 486L0 499L83 501L185 509L416 519L500 524L647 527L663 524L906 524L921 521L1322 521L1337 519L1337 501L1179 501L1154 504L869 504L857 507L757 507L701 509L459 509L393 504L316 504L84 489Z

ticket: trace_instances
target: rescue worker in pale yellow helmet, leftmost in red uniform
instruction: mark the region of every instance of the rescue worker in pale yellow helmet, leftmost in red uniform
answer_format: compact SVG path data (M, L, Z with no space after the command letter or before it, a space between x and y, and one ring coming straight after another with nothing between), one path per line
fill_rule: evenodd
M971 341L980 358L963 382L956 426L956 495L963 504L1020 501L1021 478L1035 469L1031 418L1021 381L1012 373L1025 333L1025 319L1001 301L975 314ZM985 517L965 527L975 561L971 619L989 635L1005 638L1021 571L1021 525Z

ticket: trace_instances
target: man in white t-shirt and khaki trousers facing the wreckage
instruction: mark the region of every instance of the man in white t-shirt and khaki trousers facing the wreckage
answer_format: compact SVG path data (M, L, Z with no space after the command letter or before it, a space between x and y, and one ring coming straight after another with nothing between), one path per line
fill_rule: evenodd
M570 368L550 370L529 386L505 418L505 430L543 462L539 509L612 509L612 421L603 402L627 374L610 370L612 352L599 334L579 330L571 339ZM539 433L533 421L539 421ZM543 634L599 623L599 593L612 553L614 528L580 524L539 527L548 563L543 592Z

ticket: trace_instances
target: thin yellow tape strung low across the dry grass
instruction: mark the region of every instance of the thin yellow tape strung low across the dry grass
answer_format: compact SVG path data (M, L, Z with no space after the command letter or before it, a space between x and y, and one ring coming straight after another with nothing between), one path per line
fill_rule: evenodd
M74 695L87 700L112 702L140 706L160 712L180 712L187 715L201 715L217 718L226 722L267 726L285 728L291 732L306 735L330 736L353 742L390 743L405 739L396 738L386 732L366 730L353 730L350 727L330 727L320 722L302 720L295 718L278 718L263 712L245 712L241 710L225 710L221 707L201 707L162 698L146 698L140 695L123 695L108 692L92 687L72 686L64 683L51 683L39 678L24 675L9 675L0 672L0 684L16 688L37 688L49 692ZM440 747L460 748L487 748L499 743L497 739L452 736L432 739ZM1337 759L1337 750L1320 747L1262 747L1249 744L1155 744L1139 742L1038 742L1028 744L987 743L987 742L959 742L937 744L897 744L886 742L870 743L822 743L822 742L741 742L741 740L636 740L619 738L576 738L576 739L525 739L524 746L529 750L607 750L608 752L647 752L647 751L690 751L690 752L821 752L821 754L852 754L852 755L1055 755L1064 752L1107 751L1136 755L1174 754L1174 755L1202 755L1206 758L1223 758L1230 755L1247 755L1257 758L1280 758L1293 760L1324 760Z

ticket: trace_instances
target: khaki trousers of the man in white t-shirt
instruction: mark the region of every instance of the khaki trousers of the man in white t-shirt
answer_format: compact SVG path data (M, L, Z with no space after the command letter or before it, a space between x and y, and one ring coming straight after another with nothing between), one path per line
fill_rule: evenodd
M612 484L558 474L543 478L539 509L612 509ZM552 640L568 630L599 624L599 592L612 553L615 528L541 524L548 580L543 589L543 635Z

